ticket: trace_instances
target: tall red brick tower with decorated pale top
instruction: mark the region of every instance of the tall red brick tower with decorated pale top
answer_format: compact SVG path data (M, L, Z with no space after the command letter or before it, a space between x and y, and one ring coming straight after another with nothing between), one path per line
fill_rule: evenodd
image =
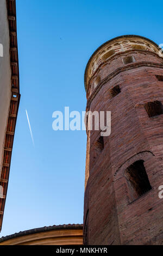
M87 130L84 244L163 241L163 58L142 36L105 42L85 70L86 111L111 111L110 136Z

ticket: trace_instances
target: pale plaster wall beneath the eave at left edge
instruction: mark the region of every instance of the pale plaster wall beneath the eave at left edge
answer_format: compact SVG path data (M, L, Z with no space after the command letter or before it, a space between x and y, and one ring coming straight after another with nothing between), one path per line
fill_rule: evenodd
M9 56L9 25L6 0L0 0L0 44L3 45L3 57L0 57L0 175L3 161L5 130L11 98L11 68ZM1 54L0 54L1 56Z

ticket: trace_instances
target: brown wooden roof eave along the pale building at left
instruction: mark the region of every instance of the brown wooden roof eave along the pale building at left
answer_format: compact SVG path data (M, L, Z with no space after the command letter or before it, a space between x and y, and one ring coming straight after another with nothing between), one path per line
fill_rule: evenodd
M5 197L1 198L2 206L1 206L1 218L0 218L0 231L2 229L2 222L3 222L3 214L4 214L4 208L5 208L5 200L7 196L7 190L8 190L8 180L9 180L9 172L10 172L10 164L11 164L11 153L12 153L12 147L13 147L13 141L14 141L14 135L15 135L15 127L16 127L16 120L17 120L17 113L18 113L18 107L20 103L20 81L19 81L19 69L18 69L18 49L17 49L17 29L16 29L16 0L6 0L7 4L7 12L8 12L8 22L9 22L9 34L10 34L10 64L11 64L11 100L10 100L10 111L9 111L9 117L8 117L8 124L9 126L10 118L14 119L14 125L12 127L12 131L6 131L5 134L5 145L8 144L8 139L10 135L12 137L12 143L10 148L6 148L4 145L4 152L8 154L9 161L7 166L7 179L5 179L5 185L3 182L3 172L1 172L2 181L0 182L0 185L6 186L5 188ZM12 40L11 40L12 39ZM15 50L16 49L16 50ZM15 54L12 54L12 51L14 51ZM13 97L13 96L16 96ZM14 104L14 110L12 109ZM12 114L12 111L14 111L14 114ZM10 150L10 151L8 151ZM10 152L10 154L9 154ZM3 166L2 170L4 168L5 160L3 159Z

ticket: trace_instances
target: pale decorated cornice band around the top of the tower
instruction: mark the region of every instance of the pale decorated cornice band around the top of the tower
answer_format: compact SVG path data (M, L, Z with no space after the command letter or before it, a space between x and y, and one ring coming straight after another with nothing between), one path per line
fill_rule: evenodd
M144 36L121 35L110 39L99 46L90 57L84 75L85 89L87 90L90 78L95 74L102 63L108 62L109 59L116 56L116 54L125 53L128 50L149 51L159 54L160 56L160 47L158 44Z

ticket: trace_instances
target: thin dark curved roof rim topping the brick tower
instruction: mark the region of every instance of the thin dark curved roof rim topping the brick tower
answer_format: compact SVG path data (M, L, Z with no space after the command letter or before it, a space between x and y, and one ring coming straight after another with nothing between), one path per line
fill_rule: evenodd
M141 35L120 35L120 36L116 36L115 38L112 38L112 39L110 39L110 40L104 42L104 44L102 44L101 46L99 46L99 47L96 49L96 51L93 52L93 54L91 55L89 61L87 62L87 65L86 65L86 68L85 68L85 72L84 72L84 86L85 86L85 90L86 90L86 73L87 73L87 68L88 68L88 66L89 66L89 64L90 64L90 62L91 62L93 56L95 56L95 54L98 52L98 50L100 50L104 45L108 44L109 42L114 41L114 40L119 39L119 38L127 38L127 37L129 37L129 36L133 36L133 37L135 36L135 37L137 37L137 38L146 39L146 40L148 40L149 42L152 42L152 44L154 44L156 47L159 47L159 45L156 44L156 42L152 41L152 40L149 39L149 38L146 38L145 36L141 36Z

